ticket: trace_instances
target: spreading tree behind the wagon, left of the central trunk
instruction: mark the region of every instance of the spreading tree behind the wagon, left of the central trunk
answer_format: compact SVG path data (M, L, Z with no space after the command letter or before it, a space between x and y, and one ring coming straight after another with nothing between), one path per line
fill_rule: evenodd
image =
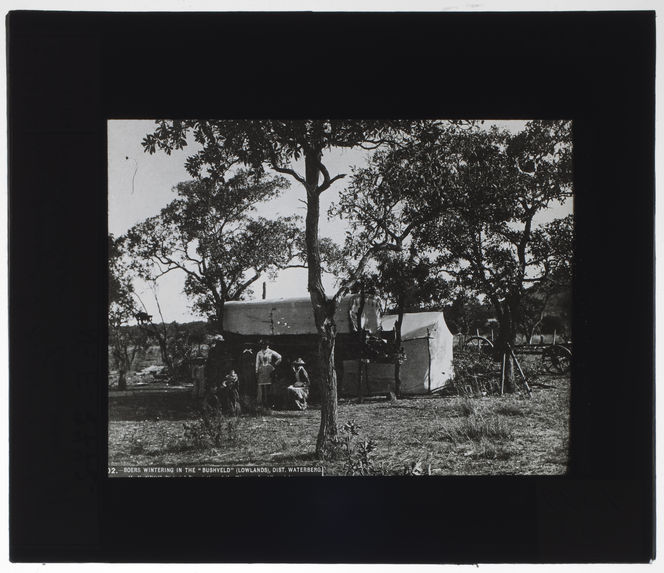
M283 177L247 170L225 181L196 178L178 184L176 199L127 233L139 274L154 281L166 273L183 272L184 291L194 309L213 315L222 332L225 302L249 294L264 273L304 266L301 219L254 216L258 203L276 197L286 186ZM155 336L165 340L166 333Z

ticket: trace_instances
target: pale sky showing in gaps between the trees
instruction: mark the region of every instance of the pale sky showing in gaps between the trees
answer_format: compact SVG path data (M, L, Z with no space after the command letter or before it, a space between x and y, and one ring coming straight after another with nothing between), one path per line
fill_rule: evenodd
M501 120L486 122L498 125L510 131L519 131L525 122L521 120ZM141 141L146 134L154 130L153 120L110 120L108 121L108 228L118 236L125 233L136 223L159 213L175 198L173 187L191 179L184 165L186 158L198 149L190 141L183 150L176 150L171 155L158 151L150 155L143 150ZM363 149L332 149L325 153L324 161L330 176L338 173L350 174L352 166L366 165L371 152ZM294 169L304 172L304 160L294 162ZM302 186L286 177L291 182L280 197L261 205L257 214L266 217L306 214ZM330 237L343 243L346 226L337 219L327 220L329 206L338 199L339 191L344 188L348 178L338 181L321 195L320 236ZM539 222L546 222L571 212L571 202L562 207L551 209L540 217ZM276 279L264 279L267 283L268 298L288 298L307 296L306 269L287 269L280 272ZM256 296L260 296L262 280L254 285ZM323 277L327 292L333 292L334 277ZM182 293L184 276L180 271L172 271L159 279L157 295L163 318L166 322L188 322L203 320L191 311L191 301ZM149 314L158 316L153 292L142 282L136 282L136 292L143 301Z

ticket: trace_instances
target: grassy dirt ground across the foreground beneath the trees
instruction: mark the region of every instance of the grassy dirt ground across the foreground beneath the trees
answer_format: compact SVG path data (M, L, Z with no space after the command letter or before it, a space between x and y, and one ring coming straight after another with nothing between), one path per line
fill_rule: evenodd
M354 422L351 457L371 440L370 473L402 475L557 475L567 469L567 376L545 376L532 396L421 396L390 402L341 400L339 426ZM187 388L111 392L110 465L321 465L315 459L320 412L274 411L223 421L219 446L185 431L198 404ZM343 435L343 434L342 434ZM344 457L345 452L345 457ZM325 475L348 475L348 450L322 462Z

